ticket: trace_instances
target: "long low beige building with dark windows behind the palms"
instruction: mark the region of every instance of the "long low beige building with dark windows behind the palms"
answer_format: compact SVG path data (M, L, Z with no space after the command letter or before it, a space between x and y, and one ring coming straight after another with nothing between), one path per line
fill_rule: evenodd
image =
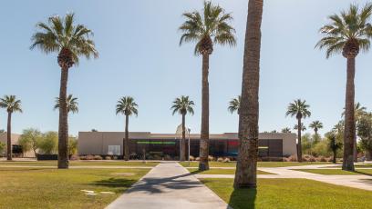
M200 134L186 134L190 137L190 154L199 156ZM79 155L122 155L124 132L79 132ZM132 159L147 158L178 159L180 155L180 134L151 134L150 132L129 133L129 154ZM284 157L296 154L295 134L259 134L260 157ZM238 134L210 134L212 156L237 156ZM186 151L188 152L188 151Z

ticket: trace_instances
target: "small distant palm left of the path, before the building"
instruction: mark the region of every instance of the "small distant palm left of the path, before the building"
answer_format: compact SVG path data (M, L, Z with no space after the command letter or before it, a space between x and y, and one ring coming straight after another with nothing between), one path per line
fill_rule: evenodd
M119 99L116 106L116 114L125 115L125 138L123 140L123 159L129 160L129 116L134 114L138 115L139 105L134 102L134 98L131 96L123 96Z

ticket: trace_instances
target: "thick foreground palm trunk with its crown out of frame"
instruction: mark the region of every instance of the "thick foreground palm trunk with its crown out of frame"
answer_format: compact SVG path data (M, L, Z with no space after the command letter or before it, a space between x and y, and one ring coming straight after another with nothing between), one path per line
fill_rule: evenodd
M250 0L245 30L242 98L239 109L239 155L235 188L257 187L258 116L263 0Z

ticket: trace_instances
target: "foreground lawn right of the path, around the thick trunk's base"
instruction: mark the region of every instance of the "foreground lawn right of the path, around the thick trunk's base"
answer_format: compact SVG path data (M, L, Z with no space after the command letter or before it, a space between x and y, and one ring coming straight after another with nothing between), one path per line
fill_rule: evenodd
M258 179L258 188L233 189L233 179L202 179L233 209L370 208L372 192L306 179Z

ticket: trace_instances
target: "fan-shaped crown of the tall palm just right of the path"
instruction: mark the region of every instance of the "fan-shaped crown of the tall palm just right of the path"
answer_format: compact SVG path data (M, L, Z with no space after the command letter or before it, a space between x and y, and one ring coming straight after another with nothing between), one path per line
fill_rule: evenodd
M196 42L195 55L211 55L213 44L236 45L235 30L230 25L231 14L225 14L220 5L204 2L202 14L199 11L184 13L186 21L181 25L180 45Z

